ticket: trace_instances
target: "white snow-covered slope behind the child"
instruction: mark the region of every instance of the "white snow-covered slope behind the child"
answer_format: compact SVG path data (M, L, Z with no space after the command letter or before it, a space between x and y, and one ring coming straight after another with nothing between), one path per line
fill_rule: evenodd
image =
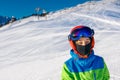
M87 2L0 28L0 80L60 80L62 65L70 58L67 36L76 25L95 30L95 53L104 57L110 80L120 80L119 3Z

